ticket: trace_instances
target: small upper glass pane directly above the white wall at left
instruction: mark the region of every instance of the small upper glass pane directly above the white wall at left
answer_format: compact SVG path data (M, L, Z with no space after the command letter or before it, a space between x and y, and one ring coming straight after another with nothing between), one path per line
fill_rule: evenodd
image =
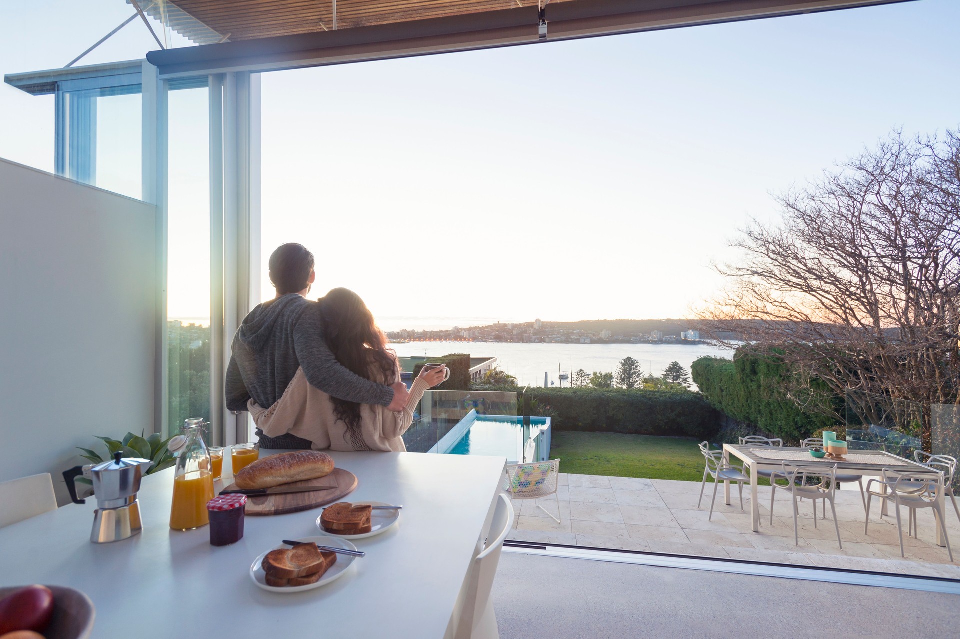
M96 185L142 197L142 108L139 93L97 98Z

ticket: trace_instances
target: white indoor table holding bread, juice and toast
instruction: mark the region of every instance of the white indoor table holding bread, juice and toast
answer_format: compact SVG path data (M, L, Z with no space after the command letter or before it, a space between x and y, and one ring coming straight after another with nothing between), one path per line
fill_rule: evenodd
M261 451L273 452L281 451ZM282 540L323 534L315 524L320 509L248 516L243 539L216 548L208 527L170 530L173 468L143 479L143 532L130 539L90 543L95 499L0 529L0 586L83 591L96 607L94 637L450 636L506 459L330 455L359 480L347 501L403 510L391 530L355 540L367 556L322 587L275 593L250 578L253 560Z

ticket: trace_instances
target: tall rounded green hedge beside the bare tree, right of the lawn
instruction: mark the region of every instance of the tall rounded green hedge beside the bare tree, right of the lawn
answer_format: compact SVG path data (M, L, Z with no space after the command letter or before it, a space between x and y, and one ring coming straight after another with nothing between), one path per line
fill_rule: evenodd
M693 381L723 414L797 442L837 425L822 414L805 413L786 396L786 365L769 357L737 355L733 361L702 357L690 367Z

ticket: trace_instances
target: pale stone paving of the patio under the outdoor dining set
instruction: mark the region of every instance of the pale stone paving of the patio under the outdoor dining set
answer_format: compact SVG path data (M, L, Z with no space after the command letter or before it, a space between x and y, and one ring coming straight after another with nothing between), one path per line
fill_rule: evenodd
M837 519L843 550L837 544L832 515L817 513L813 506L800 507L800 543L794 543L792 500L777 491L773 524L770 523L769 486L760 486L758 500L760 532L751 530L750 487L744 486L744 510L736 485L731 486L732 506L723 503L723 486L717 490L712 520L708 521L712 484L697 508L700 483L646 480L628 477L561 474L558 496L561 523L553 497L514 501L516 522L508 539L558 543L593 548L614 548L694 556L755 559L776 563L827 566L960 579L960 564L950 563L947 548L936 545L934 517L929 509L918 513L919 538L907 534L907 509L902 510L905 557L900 557L897 519L879 516L880 505L871 505L870 530L863 532L864 509L856 485L836 493ZM852 488L852 489L851 489ZM947 528L954 558L960 559L960 520L947 501Z

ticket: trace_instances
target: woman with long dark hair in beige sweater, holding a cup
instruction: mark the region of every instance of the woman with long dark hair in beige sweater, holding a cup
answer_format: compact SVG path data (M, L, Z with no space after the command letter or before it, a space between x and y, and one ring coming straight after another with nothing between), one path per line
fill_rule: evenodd
M360 296L348 289L333 289L319 302L323 337L337 361L360 377L377 384L399 381L396 353ZM331 397L307 382L302 368L269 409L252 399L248 408L253 422L270 438L290 434L312 442L314 450L376 450L403 452L403 434L413 423L414 409L423 391L444 381L445 367L420 371L406 406L394 413L383 406L357 404Z

